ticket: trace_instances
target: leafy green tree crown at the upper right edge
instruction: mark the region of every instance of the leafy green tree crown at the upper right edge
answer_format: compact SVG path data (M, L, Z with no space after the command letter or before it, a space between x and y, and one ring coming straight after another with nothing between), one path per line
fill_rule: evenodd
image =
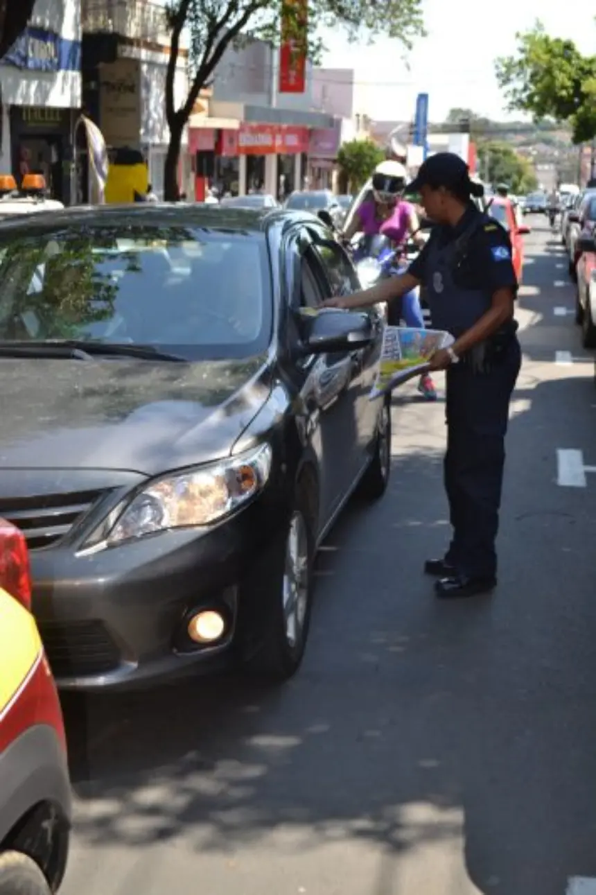
M516 55L496 62L509 109L568 122L575 143L596 137L596 55L582 55L573 40L550 38L540 21L516 37Z

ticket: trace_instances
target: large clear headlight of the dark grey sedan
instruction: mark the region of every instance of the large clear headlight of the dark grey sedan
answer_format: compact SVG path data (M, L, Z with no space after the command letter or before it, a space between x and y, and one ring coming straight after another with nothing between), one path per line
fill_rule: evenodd
M83 550L112 547L170 528L209 525L230 516L263 488L271 460L271 447L263 444L214 464L153 479L106 516Z

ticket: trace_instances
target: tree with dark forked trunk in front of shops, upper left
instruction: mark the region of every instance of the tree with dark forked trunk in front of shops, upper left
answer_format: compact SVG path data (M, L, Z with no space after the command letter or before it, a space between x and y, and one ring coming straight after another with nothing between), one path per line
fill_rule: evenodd
M380 33L411 47L413 38L424 33L421 0L304 0L308 4L308 32L301 0L170 0L166 21L170 55L166 70L166 119L170 141L166 153L164 192L168 200L177 194L177 167L184 125L200 90L209 86L217 64L228 47L251 39L279 42L281 21L285 39L294 41L298 53L316 59L320 52L321 27L340 25L350 38L362 31L370 38ZM182 106L176 107L175 72L183 30L190 33L190 88Z

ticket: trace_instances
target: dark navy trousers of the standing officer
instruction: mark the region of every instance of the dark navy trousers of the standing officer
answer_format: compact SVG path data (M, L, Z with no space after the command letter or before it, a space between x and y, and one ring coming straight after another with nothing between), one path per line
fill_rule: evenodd
M509 400L521 364L513 339L490 372L463 361L447 370L445 489L453 540L447 561L473 576L496 575Z

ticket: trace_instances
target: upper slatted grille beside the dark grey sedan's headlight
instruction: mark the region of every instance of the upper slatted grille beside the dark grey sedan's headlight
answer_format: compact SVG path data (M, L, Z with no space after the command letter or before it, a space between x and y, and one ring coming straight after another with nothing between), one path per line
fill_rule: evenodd
M102 491L74 491L28 498L1 498L0 517L21 529L30 550L49 547L64 538Z

